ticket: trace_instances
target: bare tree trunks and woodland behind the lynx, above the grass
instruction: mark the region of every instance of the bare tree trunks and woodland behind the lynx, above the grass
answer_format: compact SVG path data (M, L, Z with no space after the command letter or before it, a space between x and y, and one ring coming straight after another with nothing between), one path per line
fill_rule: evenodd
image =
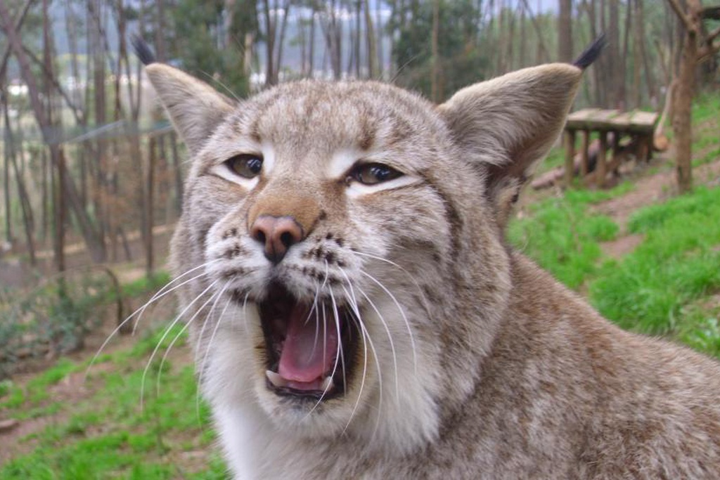
M64 271L66 247L76 243L96 263L143 255L148 274L156 268L150 232L179 215L186 166L129 51L132 34L148 40L158 60L238 98L312 77L382 79L442 101L507 71L572 61L605 32L608 47L577 107L662 111L683 63L685 25L674 8L694 3L6 1L0 219L2 250L22 255L23 265L0 281L27 284L32 271ZM713 26L701 24L705 32ZM716 37L700 40L712 46ZM711 52L693 65L700 86L716 81L717 63Z

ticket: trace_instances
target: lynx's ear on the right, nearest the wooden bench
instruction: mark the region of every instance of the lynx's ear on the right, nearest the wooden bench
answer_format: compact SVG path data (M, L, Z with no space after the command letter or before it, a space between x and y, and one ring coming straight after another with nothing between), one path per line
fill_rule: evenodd
M458 91L438 107L454 140L485 175L505 223L528 168L562 132L582 69L551 63L508 73Z

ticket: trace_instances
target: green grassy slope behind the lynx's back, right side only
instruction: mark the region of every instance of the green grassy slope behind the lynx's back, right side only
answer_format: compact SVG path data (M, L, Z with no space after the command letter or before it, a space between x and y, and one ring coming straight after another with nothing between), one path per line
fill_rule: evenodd
M720 95L702 96L694 106L696 166L718 161L718 111ZM531 204L528 216L510 223L508 238L559 281L588 291L590 302L622 327L720 356L720 189L698 186L634 212L628 230L642 243L612 260L600 243L613 240L618 226L591 206L632 188L567 191Z

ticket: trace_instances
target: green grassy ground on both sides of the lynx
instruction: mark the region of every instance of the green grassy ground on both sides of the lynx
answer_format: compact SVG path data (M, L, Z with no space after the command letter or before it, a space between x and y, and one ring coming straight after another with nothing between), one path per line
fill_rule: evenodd
M714 126L697 139L698 164L720 155L714 123L718 111L720 96L706 97L696 106L696 124ZM642 244L611 261L600 243L615 238L618 226L593 214L592 206L633 188L622 184L611 191L570 191L544 199L510 224L508 237L571 288L589 292L595 306L624 327L672 335L720 355L720 308L711 301L720 291L720 191L698 188L636 212L629 230L644 235ZM178 332L173 330L168 339ZM153 361L140 409L143 369L161 335L156 332L130 350L102 356L86 383L79 383L87 394L75 402L63 400L58 389L83 375L86 362L59 361L22 385L0 382L0 419L53 419L17 439L26 453L0 466L0 478L225 478L225 466L210 448L214 435L207 408L201 403L196 412L189 361L169 356L159 390L160 361ZM168 339L159 350L161 357ZM174 349L186 350L184 341L181 335Z

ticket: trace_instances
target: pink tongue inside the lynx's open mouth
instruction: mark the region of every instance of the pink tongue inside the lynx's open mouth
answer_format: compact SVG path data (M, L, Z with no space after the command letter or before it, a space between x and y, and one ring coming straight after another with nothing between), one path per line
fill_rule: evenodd
M315 383L332 369L338 353L338 332L334 325L323 329L314 314L306 320L305 307L292 309L277 373L286 380Z

